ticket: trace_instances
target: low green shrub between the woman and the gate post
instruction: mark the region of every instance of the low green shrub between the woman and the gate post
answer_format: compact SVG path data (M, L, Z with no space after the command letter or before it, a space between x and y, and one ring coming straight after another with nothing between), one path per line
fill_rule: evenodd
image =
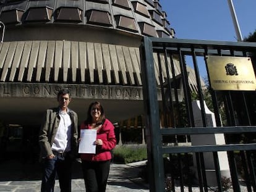
M124 144L113 149L113 161L130 163L147 159L147 147L141 144Z

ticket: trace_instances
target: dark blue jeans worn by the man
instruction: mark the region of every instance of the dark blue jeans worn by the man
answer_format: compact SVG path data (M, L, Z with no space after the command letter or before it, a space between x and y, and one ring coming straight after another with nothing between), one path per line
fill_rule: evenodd
M65 157L55 156L53 159L45 159L43 164L43 178L41 192L53 192L55 179L58 175L61 192L71 191L72 159L67 154Z

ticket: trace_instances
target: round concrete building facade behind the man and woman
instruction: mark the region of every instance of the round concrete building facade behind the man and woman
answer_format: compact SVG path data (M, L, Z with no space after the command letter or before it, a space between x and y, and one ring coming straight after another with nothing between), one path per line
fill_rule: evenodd
M37 138L43 112L56 106L61 88L69 88L70 108L79 114L79 122L86 119L88 104L95 100L103 104L112 122L143 114L139 49L143 36L174 38L160 3L2 0L2 124L21 129L16 132L22 132L23 140ZM179 61L174 59L174 64L179 74ZM195 78L189 78L193 86ZM1 138L8 134L1 128Z

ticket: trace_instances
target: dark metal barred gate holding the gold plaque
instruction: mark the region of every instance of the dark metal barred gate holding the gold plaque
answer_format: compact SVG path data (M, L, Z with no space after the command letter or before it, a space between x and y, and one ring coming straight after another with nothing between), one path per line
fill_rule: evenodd
M208 56L250 57L255 70L256 43L145 37L140 49L150 191L256 191L256 92L216 91L210 83L203 87L200 77L203 67L209 78ZM200 127L195 126L194 100L201 109ZM208 126L204 101L215 115L214 128ZM215 134L224 135L225 143L191 144L195 135ZM223 151L230 180L221 172ZM216 186L208 184L206 152L213 159Z

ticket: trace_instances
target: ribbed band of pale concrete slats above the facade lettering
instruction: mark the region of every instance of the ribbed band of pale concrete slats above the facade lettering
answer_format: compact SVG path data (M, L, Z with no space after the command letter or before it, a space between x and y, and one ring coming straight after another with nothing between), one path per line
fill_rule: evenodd
M139 48L83 41L12 41L0 46L1 81L142 85Z

